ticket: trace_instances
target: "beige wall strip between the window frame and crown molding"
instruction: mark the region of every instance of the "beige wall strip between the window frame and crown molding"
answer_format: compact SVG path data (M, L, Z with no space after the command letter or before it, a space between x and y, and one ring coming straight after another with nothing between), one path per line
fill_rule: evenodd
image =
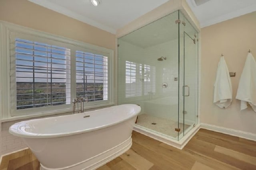
M115 35L27 0L0 0L0 20L115 49Z

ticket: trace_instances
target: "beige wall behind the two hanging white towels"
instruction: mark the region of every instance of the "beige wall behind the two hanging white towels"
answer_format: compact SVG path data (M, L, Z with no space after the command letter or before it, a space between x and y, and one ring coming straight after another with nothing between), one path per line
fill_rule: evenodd
M240 101L235 99L248 49L252 50L252 55L256 59L256 12L201 30L201 122L256 134L256 113L251 107L240 111ZM213 85L222 53L229 71L236 72L236 76L231 77L233 102L228 109L221 109L213 104Z

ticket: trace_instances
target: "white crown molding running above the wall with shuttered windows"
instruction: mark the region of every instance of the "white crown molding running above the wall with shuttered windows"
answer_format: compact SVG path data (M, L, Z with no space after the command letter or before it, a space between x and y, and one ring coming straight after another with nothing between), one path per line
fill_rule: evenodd
M71 18L74 18L74 19L76 19L78 21L82 21L84 23L87 23L89 25L92 25L94 27L102 29L104 31L108 31L108 32L110 32L112 34L116 34L116 29L114 29L112 27L108 27L108 26L106 26L106 25L104 25L102 23L94 21L94 20L92 20L90 18L87 18L85 16L82 16L80 14L77 14L76 12L68 10L67 8L64 8L62 6L58 6L58 5L56 5L56 4L52 3L52 2L49 2L48 0L28 0L28 1L33 2L35 4L38 4L40 6L43 6L45 8L48 8L50 10L53 10L55 12L58 12L60 14L63 14L65 16L69 16Z

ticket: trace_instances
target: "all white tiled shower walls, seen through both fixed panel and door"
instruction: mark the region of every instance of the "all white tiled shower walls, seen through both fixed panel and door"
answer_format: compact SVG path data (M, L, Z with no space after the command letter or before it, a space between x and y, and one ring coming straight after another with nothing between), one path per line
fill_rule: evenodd
M164 42L150 47L140 47L128 43L123 40L118 40L120 47L118 48L119 63L131 61L134 63L147 64L155 67L156 80L155 91L156 93L151 96L142 95L130 98L125 97L125 65L119 66L118 70L118 101L119 104L134 103L142 107L141 113L146 113L156 117L168 118L178 121L178 81L174 78L178 77L178 39L173 41ZM191 42L190 42L191 41ZM190 96L185 97L185 111L183 116L183 96L180 95L180 122L185 119L186 124L194 124L195 113L197 108L197 58L195 55L196 45L191 39L186 42L186 59L185 59L185 85L190 87ZM183 56L183 49L181 49ZM166 57L164 61L157 61L160 57ZM184 62L180 59L180 62ZM183 65L183 63L180 63ZM181 66L182 66L181 65ZM183 75L183 69L180 70L180 75ZM120 81L123 79L122 81ZM162 83L168 84L167 88L162 87ZM183 78L180 79L183 84ZM182 85L180 86L182 92ZM152 113L151 113L152 112Z

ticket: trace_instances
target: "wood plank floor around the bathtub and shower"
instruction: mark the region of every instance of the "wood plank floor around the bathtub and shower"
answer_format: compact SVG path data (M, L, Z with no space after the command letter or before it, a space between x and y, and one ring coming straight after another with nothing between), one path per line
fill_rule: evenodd
M140 133L132 148L98 170L256 170L256 142L200 129L179 150ZM39 162L22 150L4 156L0 170L38 170Z

